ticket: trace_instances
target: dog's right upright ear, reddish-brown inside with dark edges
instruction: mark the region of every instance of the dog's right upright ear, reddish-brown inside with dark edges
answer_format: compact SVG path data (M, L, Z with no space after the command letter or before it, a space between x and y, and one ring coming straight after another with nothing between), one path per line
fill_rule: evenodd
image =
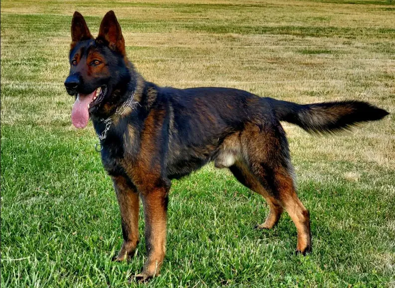
M122 36L121 25L113 10L108 11L100 24L98 38L103 38L109 47L125 55L125 40Z

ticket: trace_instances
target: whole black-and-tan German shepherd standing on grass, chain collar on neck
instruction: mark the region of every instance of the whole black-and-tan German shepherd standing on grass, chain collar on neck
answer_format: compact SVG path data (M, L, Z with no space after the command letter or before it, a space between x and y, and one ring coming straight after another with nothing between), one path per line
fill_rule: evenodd
M71 119L77 128L92 119L121 210L124 241L115 261L136 248L139 198L143 204L147 260L136 275L140 281L158 275L163 263L170 180L211 161L265 198L270 211L257 229L271 229L285 210L297 229L296 253L310 252L309 211L296 195L280 121L324 134L388 115L361 101L299 105L231 88L159 87L128 60L113 11L104 16L96 39L75 12L71 39L64 82L76 99Z

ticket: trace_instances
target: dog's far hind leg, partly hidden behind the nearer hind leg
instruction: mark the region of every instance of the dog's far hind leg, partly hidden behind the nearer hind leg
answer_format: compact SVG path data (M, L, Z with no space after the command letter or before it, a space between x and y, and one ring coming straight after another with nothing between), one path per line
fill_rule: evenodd
M255 229L271 229L274 225L277 224L278 220L280 220L282 214L282 207L278 203L278 201L271 197L266 190L263 188L260 181L251 173L250 169L246 164L237 161L234 165L229 167L233 175L239 180L247 188L252 191L262 195L269 205L269 214L266 217L266 220L263 224L258 224L255 226Z

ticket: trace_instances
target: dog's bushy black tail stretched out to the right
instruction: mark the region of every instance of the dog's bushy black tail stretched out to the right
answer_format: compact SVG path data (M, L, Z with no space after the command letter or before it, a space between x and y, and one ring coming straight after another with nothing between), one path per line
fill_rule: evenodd
M309 133L334 133L359 122L380 120L389 113L362 101L300 105L269 98L277 119L296 124Z

